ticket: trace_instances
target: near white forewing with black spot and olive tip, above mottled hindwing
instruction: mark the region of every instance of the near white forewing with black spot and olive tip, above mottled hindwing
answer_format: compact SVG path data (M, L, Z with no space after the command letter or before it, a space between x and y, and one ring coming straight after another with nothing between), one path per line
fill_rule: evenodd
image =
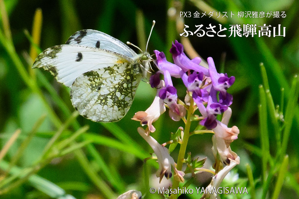
M39 54L33 68L50 71L58 82L70 87L75 79L85 72L132 62L131 58L108 50L77 45L59 45Z

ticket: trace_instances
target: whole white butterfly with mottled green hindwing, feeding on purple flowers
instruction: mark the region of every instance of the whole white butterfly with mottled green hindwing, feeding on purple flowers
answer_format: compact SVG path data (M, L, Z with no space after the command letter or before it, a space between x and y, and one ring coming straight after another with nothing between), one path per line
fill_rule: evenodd
M71 102L80 115L96 122L115 122L129 111L139 82L150 73L153 59L147 47L141 52L135 53L106 33L80 30L64 45L40 53L32 68L43 68L70 87Z

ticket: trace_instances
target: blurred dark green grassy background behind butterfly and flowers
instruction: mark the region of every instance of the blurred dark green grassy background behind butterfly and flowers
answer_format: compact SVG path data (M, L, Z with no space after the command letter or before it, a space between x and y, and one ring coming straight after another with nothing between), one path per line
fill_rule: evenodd
M189 36L190 43L196 52L204 60L213 57L218 71L227 72L229 76L235 76L236 81L229 89L234 96L231 105L233 110L229 126L236 125L240 129L239 139L231 144L231 148L241 158L241 163L236 166L234 172L238 173L238 180L224 181L225 185L240 185L250 187L247 180L246 163L252 169L256 198L262 198L263 178L261 178L263 151L261 150L261 134L258 115L258 104L260 103L259 85L263 83L260 72L260 63L263 62L269 80L269 87L273 97L274 105L279 104L278 114L286 112L289 92L291 90L292 77L299 71L299 29L298 8L299 1L296 0L210 0L210 1L133 1L133 0L107 0L107 1L1 1L1 6L6 6L9 19L11 37L15 51L11 43L6 42L5 33L8 31L7 24L1 23L1 46L0 46L0 144L5 145L16 129L21 129L21 134L8 150L0 162L2 176L9 162L14 160L19 147L23 141L32 135L28 146L19 152L20 157L16 161L18 169L33 168L48 141L61 129L62 135L59 141L67 140L70 135L84 125L89 129L77 138L77 143L91 141L80 150L59 155L42 165L41 169L32 171L32 175L22 179L17 172L11 169L10 175L1 178L1 183L7 184L0 189L1 198L113 198L129 189L141 190L146 193L147 178L144 176L143 159L149 156L152 149L138 135L137 127L140 124L132 121L135 112L146 110L152 103L155 90L149 84L141 82L138 87L135 100L126 117L115 124L98 124L81 116L70 121L70 125L61 128L74 111L71 105L69 90L57 83L48 73L39 69L30 69L30 36L24 32L28 30L31 34L33 18L37 8L42 11L42 29L40 44L41 50L54 45L64 44L65 41L77 30L94 29L105 32L120 41L130 41L133 44L145 48L146 40L152 25L156 21L153 34L149 41L149 53L153 50L164 51L168 61L172 61L169 53L171 41L181 40L176 30L176 16L167 15L169 8L179 11L190 11L191 18L179 18L184 24L189 25L195 31L195 25L222 24L267 24L277 27L281 24L286 27L286 37L197 37ZM217 18L193 18L193 13L198 11L231 11L235 14L233 18L217 21ZM238 18L238 11L285 11L286 18ZM1 9L2 21L5 13ZM228 32L226 32L228 34ZM28 39L29 38L29 39ZM33 38L34 39L34 38ZM6 42L6 43L5 43ZM33 47L37 49L36 46ZM134 49L135 50L135 49ZM18 55L18 56L16 56ZM34 55L34 53L33 53ZM22 68L22 69L21 69ZM39 71L37 71L39 70ZM20 72L21 71L21 72ZM23 72L22 72L23 71ZM28 73L26 80L26 75ZM36 79L35 79L36 77ZM32 79L32 80L31 80ZM174 86L178 90L181 100L184 99L185 88L178 79L174 80ZM281 88L284 88L282 93ZM298 95L295 96L298 102ZM283 100L282 100L283 99ZM281 109L281 102L284 106ZM289 155L288 172L282 185L279 198L299 198L299 109L298 103L294 104L294 120L290 130L289 142L286 154ZM47 114L45 120L37 130L34 125ZM286 117L286 116L285 116ZM276 159L277 151L275 142L275 125L272 125L268 114L268 132L270 141L270 153ZM280 127L284 128L283 122L278 121ZM196 123L196 122L195 122ZM194 127L196 124L194 123ZM292 123L292 122L291 122ZM159 143L169 141L170 132L176 132L177 128L183 126L182 121L172 121L165 112L155 122L156 132L152 136ZM290 125L289 125L290 126ZM194 128L193 127L193 128ZM86 131L86 130L85 130ZM34 135L33 135L34 134ZM201 157L208 157L207 165L213 164L214 158L211 151L211 134L193 135L188 143L187 151ZM68 143L67 147L76 146ZM84 143L83 143L84 144ZM25 146L25 145L24 145ZM51 148L52 150L53 148ZM54 149L53 149L54 150ZM176 160L179 147L171 154ZM5 164L6 163L6 164ZM273 162L272 162L273 163ZM268 169L274 168L272 163ZM157 186L158 180L155 172L158 163L154 160L147 162L149 169L149 186ZM275 167L276 168L276 167ZM271 197L274 192L274 184L279 175L279 168L271 170L274 174L269 180L269 193ZM22 170L26 171L26 170ZM9 176L17 176L11 178ZM231 174L233 175L233 174ZM30 177L31 176L31 177ZM36 178L32 178L36 177ZM193 181L192 186L207 186L210 175L199 173ZM44 180L47 181L44 181ZM49 184L48 184L49 183ZM165 182L166 183L166 182ZM11 187L10 187L11 186ZM8 192L3 192L9 187ZM267 190L268 191L268 190ZM69 194L69 195L67 195ZM158 195L146 195L147 198L159 198ZM222 198L251 198L246 195L222 195ZM199 198L198 195L184 195L180 198ZM253 198L253 197L252 197Z

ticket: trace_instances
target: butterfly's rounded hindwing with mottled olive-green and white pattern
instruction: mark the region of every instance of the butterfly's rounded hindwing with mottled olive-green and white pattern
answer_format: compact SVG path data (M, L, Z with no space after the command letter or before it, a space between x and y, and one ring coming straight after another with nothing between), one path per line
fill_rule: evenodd
M72 104L92 121L119 121L130 109L141 78L140 66L130 63L86 72L71 86Z

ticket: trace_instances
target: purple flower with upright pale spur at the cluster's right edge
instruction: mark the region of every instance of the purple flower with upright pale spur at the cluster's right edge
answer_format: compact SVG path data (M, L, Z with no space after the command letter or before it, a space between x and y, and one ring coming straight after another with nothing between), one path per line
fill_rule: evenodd
M226 97L226 95L224 94L226 93L226 90L228 90L228 88L234 84L235 77L228 77L226 73L219 74L216 70L213 58L211 57L208 57L208 64L213 87L215 88L215 90L222 92L223 97Z

